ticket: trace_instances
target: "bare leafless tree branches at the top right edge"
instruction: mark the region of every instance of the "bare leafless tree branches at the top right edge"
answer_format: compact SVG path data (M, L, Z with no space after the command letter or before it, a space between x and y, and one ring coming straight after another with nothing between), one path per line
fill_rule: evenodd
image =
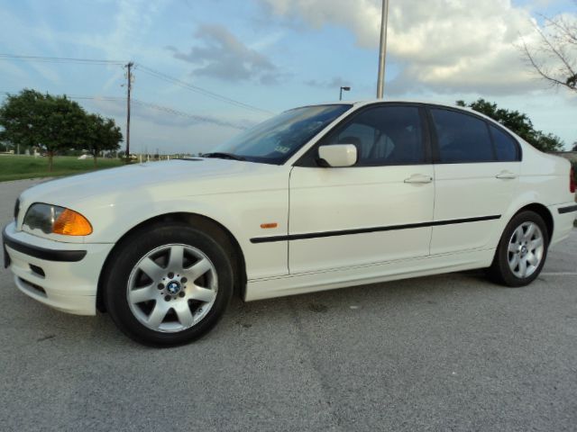
M525 58L549 84L577 93L577 21L569 14L542 18L544 27L535 25L536 44L523 41Z

